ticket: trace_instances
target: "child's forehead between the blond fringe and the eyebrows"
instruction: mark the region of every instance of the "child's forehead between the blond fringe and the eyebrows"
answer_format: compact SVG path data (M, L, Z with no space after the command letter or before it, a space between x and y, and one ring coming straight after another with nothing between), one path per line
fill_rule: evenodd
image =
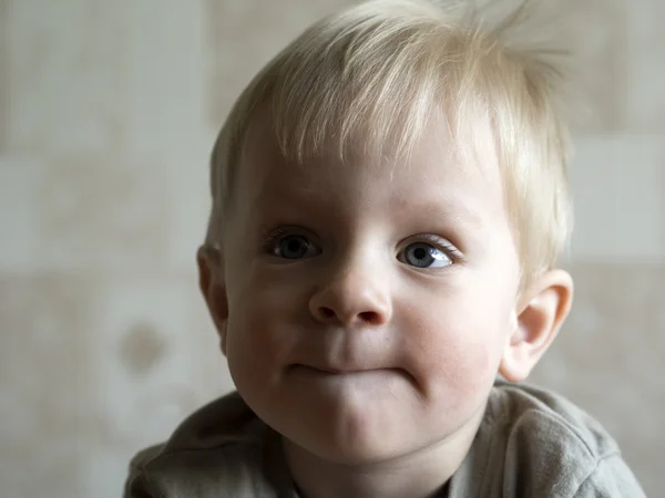
M259 113L247 131L238 168L236 188L248 205L311 204L332 195L350 204L381 198L392 208L416 199L460 207L475 199L493 210L503 205L494 138L480 120L469 141L452 139L444 117L437 115L408 154L396 155L390 143L381 154L368 154L358 135L344 155L330 141L323 153L297 160L280 149L269 114Z

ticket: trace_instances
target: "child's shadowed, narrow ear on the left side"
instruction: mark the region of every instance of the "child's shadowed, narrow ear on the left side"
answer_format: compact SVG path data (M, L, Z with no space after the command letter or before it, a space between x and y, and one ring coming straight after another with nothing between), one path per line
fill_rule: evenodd
M196 252L196 262L198 264L198 287L219 334L222 352L226 354L228 300L222 251L217 248L203 246Z

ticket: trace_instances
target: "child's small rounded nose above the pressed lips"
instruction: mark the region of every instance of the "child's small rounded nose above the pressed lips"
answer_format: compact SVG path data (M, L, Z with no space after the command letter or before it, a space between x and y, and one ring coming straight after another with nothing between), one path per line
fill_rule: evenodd
M325 324L381 325L392 314L388 282L369 268L340 269L314 292L309 311Z

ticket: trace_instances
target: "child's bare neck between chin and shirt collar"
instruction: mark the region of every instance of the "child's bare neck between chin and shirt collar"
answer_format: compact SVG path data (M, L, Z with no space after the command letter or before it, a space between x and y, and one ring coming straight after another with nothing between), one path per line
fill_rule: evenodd
M440 492L461 466L479 423L412 454L377 463L331 463L287 439L284 450L290 473L306 498L428 498Z

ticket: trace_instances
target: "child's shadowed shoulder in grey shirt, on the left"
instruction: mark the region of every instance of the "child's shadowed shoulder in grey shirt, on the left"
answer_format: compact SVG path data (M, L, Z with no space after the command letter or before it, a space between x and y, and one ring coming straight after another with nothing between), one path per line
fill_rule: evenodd
M278 442L237 393L187 417L130 464L125 497L273 496L266 477Z

